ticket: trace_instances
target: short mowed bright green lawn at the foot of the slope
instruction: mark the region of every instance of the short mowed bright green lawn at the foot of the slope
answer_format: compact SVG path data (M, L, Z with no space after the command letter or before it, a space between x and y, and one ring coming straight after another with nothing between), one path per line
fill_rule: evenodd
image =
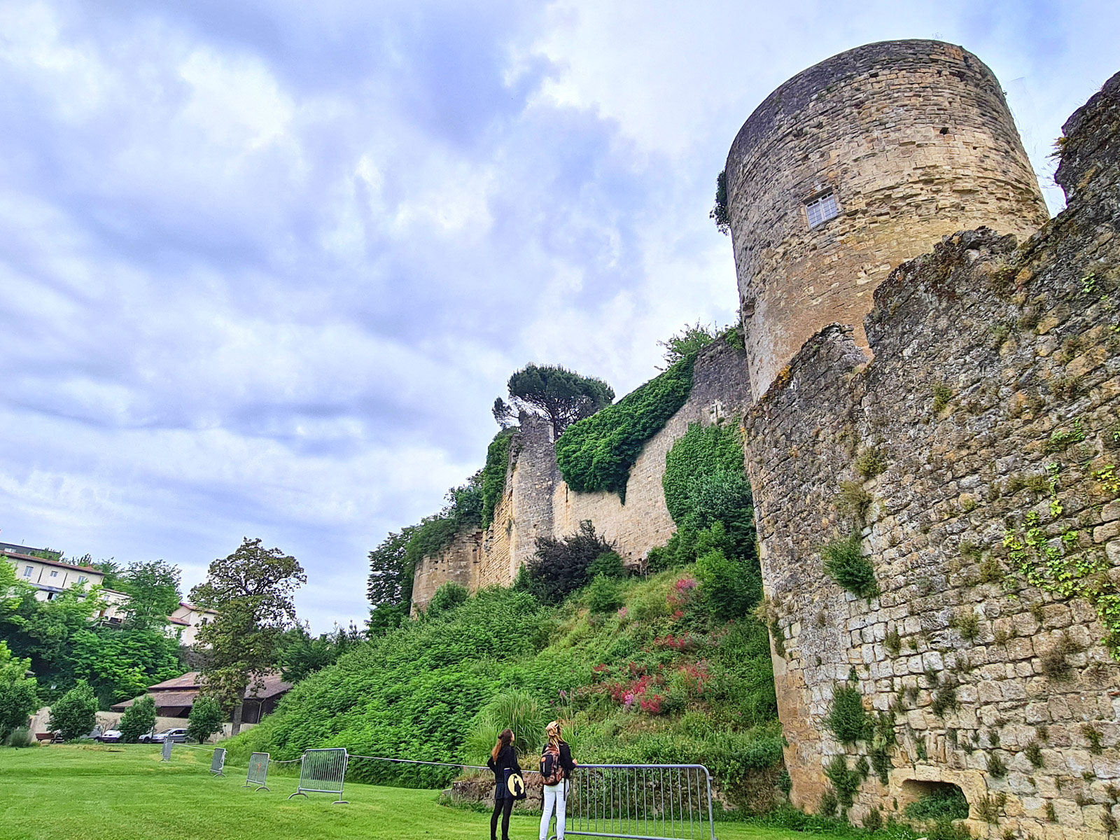
M0 749L3 840L487 840L488 814L445 808L436 791L346 784L348 805L330 794L288 800L295 774L269 774L271 791L241 787L244 767L212 777L209 749L47 746ZM511 840L535 840L540 820L514 816ZM803 834L718 823L719 840L791 840Z

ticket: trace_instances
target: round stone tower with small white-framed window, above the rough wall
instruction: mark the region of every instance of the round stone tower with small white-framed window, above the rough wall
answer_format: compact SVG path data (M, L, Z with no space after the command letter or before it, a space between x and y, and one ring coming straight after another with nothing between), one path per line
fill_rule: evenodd
M820 328L864 316L945 234L1020 239L1049 214L999 82L935 40L868 44L766 97L727 157L754 398Z

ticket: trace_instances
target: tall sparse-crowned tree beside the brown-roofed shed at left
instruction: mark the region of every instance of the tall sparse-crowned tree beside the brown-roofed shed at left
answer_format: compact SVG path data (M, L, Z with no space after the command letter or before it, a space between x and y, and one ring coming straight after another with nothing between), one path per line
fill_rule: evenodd
M262 688L276 663L277 641L296 622L292 592L307 582L296 558L261 548L248 536L226 558L214 560L206 582L190 590L195 604L217 610L198 629L208 646L202 669L206 693L233 711L233 734L241 730L245 690Z

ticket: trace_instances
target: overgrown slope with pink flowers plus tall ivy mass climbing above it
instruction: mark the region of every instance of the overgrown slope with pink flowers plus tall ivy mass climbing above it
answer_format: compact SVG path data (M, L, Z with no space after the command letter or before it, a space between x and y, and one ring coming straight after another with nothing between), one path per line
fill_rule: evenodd
M513 587L446 585L424 615L299 683L231 756L344 746L479 764L501 728L535 754L561 718L584 763L702 763L732 805L773 804L782 735L737 426L690 427L663 483L678 530L648 577L627 577L589 523L542 540ZM457 775L364 760L353 773L411 786Z

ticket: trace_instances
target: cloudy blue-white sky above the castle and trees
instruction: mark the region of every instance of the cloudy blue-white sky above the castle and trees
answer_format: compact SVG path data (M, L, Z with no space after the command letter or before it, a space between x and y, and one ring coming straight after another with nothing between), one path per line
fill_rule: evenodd
M905 11L899 11L905 9ZM0 540L299 558L316 631L477 469L516 367L619 394L728 323L739 125L887 38L1001 80L1052 209L1120 4L0 2Z

